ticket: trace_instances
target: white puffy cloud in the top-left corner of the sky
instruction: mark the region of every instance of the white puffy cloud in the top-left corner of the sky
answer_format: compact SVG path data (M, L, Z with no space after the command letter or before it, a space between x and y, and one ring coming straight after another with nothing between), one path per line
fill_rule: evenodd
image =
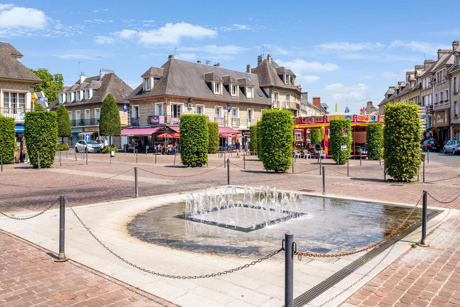
M11 5L0 5L0 28L44 29L47 17L44 12Z

